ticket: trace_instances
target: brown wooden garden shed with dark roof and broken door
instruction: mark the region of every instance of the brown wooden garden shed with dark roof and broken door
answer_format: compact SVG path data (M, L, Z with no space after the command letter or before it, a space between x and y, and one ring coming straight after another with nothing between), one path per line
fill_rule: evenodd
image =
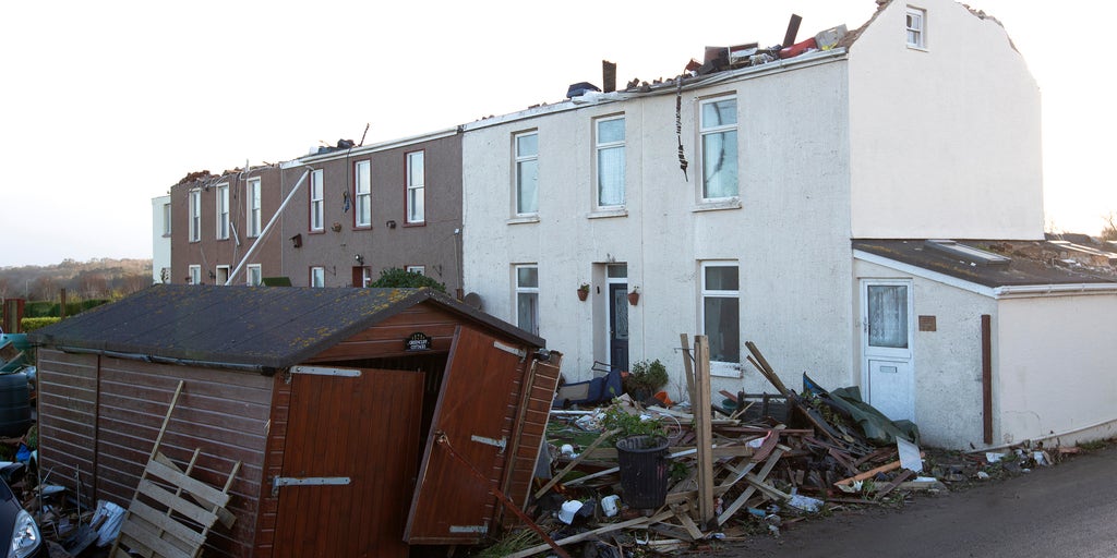
M229 557L480 542L515 520L490 487L527 501L561 359L430 289L157 285L31 339L40 474L127 507L181 381L161 451L212 485L240 463Z

